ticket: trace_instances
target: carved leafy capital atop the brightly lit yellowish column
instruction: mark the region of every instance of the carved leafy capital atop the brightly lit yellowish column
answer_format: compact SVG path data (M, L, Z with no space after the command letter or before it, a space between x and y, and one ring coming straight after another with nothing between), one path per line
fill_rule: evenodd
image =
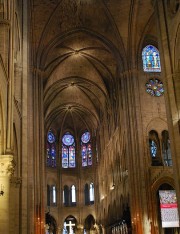
M11 176L14 168L13 155L0 155L0 176Z

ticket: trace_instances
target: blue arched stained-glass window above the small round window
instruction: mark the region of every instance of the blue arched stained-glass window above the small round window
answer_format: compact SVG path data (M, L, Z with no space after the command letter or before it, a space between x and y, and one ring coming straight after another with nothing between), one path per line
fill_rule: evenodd
M161 72L159 51L152 45L147 45L142 51L143 70L145 72Z

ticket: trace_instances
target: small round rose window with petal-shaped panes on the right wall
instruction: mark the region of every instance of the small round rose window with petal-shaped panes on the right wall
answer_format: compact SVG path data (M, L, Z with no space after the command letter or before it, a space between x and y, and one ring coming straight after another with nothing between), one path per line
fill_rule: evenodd
M151 96L160 97L164 94L163 83L157 78L150 79L145 86L146 92Z

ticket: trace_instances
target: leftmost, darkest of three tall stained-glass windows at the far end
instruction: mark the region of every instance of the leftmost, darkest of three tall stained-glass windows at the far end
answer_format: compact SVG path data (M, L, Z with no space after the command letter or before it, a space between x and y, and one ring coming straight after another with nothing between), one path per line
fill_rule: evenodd
M46 142L46 165L48 167L56 167L56 138L52 130L47 134Z

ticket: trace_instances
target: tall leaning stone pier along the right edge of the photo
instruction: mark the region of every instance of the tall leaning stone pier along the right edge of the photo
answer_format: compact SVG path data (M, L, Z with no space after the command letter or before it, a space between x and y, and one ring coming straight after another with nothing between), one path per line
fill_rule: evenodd
M170 133L175 189L180 212L180 14L178 11L174 11L172 17L170 6L166 1L156 0L154 4L158 15L162 77L164 78L165 86L165 101ZM174 5L174 9L178 9L177 1L172 0L171 4L171 6Z

